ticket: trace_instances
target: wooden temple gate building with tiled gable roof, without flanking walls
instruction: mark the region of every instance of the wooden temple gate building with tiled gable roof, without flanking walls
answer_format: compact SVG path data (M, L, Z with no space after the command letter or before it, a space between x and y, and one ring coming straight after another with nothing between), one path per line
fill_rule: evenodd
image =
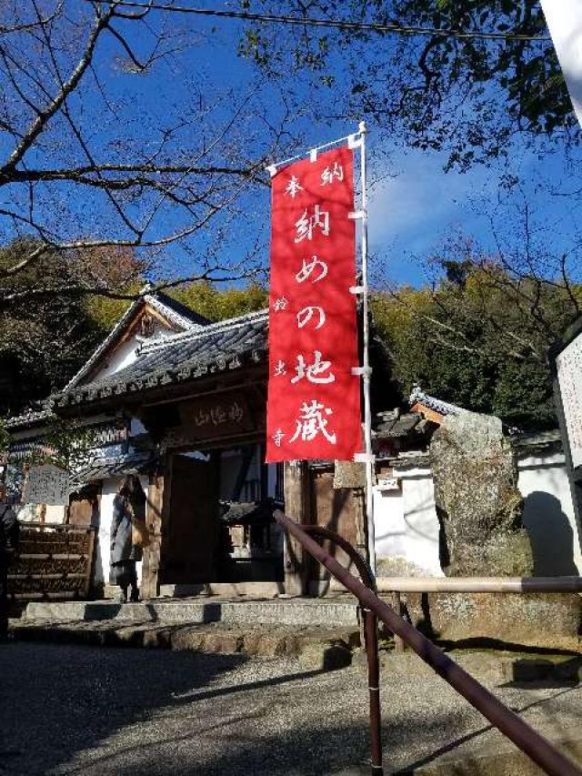
M115 492L128 472L147 496L139 573L144 598L236 591L321 595L328 580L272 521L276 505L338 531L366 552L361 465L266 464L268 311L212 323L164 294L144 293L41 411L8 421L6 479L42 445L47 418L75 419L95 449L73 473L70 504L47 521L93 526L92 594L107 593ZM376 409L390 406L382 348L373 352ZM394 406L394 404L392 404ZM38 519L21 505L21 519Z

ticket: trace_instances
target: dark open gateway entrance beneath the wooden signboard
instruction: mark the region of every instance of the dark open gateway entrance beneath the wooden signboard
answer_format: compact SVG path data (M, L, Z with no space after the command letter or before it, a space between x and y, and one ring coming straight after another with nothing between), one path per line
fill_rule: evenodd
M258 444L175 452L160 581L276 582L284 578L281 465Z

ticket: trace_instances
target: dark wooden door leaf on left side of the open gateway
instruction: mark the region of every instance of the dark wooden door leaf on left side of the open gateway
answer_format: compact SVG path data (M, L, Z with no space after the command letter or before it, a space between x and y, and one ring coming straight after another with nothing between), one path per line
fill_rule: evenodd
M211 459L172 460L164 573L168 584L211 582L216 576L218 467Z

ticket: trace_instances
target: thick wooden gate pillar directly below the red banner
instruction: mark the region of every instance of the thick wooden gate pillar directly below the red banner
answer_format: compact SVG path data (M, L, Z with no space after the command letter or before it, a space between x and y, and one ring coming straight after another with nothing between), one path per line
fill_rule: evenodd
M284 465L286 516L296 523L311 522L311 480L305 460L286 461ZM285 534L285 592L288 596L305 595L307 557L296 539Z

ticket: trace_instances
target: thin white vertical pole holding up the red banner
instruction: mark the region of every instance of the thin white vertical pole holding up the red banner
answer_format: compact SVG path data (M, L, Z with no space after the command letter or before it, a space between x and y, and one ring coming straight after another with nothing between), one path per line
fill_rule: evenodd
M370 406L370 368L367 286L367 191L366 191L366 123L359 125L360 144L360 185L362 188L362 313L364 316L364 439L366 444L366 523L367 553L372 572L376 574L376 529L374 526L374 455L372 452L372 408Z

